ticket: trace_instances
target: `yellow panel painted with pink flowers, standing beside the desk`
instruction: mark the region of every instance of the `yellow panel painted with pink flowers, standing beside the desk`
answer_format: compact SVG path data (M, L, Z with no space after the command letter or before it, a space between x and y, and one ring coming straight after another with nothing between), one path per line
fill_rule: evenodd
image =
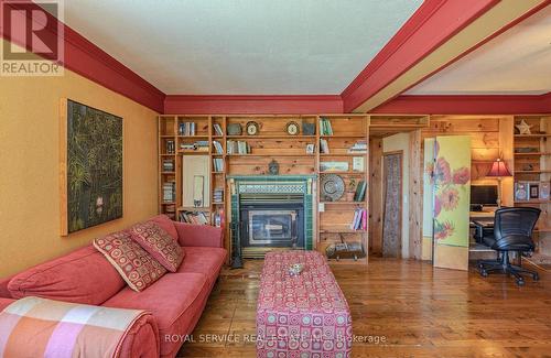
M471 140L464 135L439 137L433 143L434 161L425 164L434 191L433 237L440 243L467 246Z

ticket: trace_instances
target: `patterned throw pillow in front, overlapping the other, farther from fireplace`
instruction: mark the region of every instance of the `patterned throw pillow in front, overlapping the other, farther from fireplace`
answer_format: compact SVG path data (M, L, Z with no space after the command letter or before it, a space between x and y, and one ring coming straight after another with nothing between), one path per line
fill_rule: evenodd
M128 231L96 238L94 247L106 257L134 291L145 290L166 273L166 269L136 243Z

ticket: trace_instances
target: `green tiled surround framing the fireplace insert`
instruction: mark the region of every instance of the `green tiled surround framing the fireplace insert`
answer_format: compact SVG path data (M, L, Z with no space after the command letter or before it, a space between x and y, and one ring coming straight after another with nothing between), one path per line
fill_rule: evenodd
M237 240L239 236L239 195L252 193L274 193L274 194L302 194L304 198L304 247L306 250L313 249L314 226L313 226L313 194L312 186L315 175L228 175L230 182L231 197L231 240L233 267L240 267L240 246Z

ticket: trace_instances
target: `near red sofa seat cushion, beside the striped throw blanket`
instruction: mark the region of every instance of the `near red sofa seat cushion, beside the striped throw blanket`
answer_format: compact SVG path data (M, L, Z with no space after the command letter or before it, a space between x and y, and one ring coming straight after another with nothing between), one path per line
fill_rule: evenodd
M151 312L159 325L161 356L174 356L184 343L177 337L193 332L209 292L204 274L168 273L142 292L120 291L104 306Z

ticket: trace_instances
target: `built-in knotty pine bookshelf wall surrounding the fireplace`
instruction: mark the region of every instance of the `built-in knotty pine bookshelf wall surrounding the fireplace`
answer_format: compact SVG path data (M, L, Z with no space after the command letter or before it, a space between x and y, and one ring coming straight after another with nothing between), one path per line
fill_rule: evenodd
M332 122L333 134L320 134L320 118L327 118ZM255 121L259 126L259 133L247 135L246 126L249 121ZM291 135L287 133L285 128L290 121L294 121L300 127L300 133ZM179 126L184 122L195 123L195 134L183 134L179 132ZM228 126L239 123L241 134L229 135ZM315 134L304 134L303 123L315 124ZM214 124L218 124L222 133L214 130ZM320 153L320 139L328 142L331 153ZM227 152L227 141L245 141L250 147L250 153ZM159 116L159 213L168 214L174 219L179 219L180 213L184 210L197 209L213 214L219 209L224 210L224 223L230 219L230 203L228 200L229 186L227 175L263 175L268 174L268 164L276 160L279 163L279 173L285 174L324 174L320 171L321 161L346 161L349 163L349 171L327 172L341 175L348 185L349 180L354 178L357 183L360 180L368 183L368 154L348 153L350 148L357 141L369 140L369 116L367 115L172 115ZM166 142L175 143L174 153L166 151ZM208 151L182 150L182 144L191 144L196 141L207 141ZM216 151L214 142L222 145L222 153ZM306 145L314 144L313 153L306 153ZM210 200L206 207L193 208L182 205L182 159L185 155L208 155L210 173ZM364 170L353 172L352 163L355 156L364 159ZM163 160L174 161L174 170L163 169ZM224 163L224 171L216 171L213 165L213 159L219 159ZM175 183L175 198L171 203L163 202L163 184L168 181ZM223 200L215 202L213 194L215 188L223 188ZM316 187L316 192L318 192ZM349 223L354 217L354 210L357 207L367 209L368 195L366 189L365 199L361 202L346 202L345 197L339 202L324 203L320 200L316 193L314 207L314 247L325 253L325 248L339 242L338 236L345 235L346 240L360 240L364 249L368 250L368 238L366 230L350 230ZM320 204L325 210L320 213ZM210 217L212 218L212 217ZM209 223L213 224L213 223ZM226 225L226 247L229 249L230 231L229 225ZM331 229L326 229L331 227ZM342 259L341 263L367 263L365 259L354 261Z

